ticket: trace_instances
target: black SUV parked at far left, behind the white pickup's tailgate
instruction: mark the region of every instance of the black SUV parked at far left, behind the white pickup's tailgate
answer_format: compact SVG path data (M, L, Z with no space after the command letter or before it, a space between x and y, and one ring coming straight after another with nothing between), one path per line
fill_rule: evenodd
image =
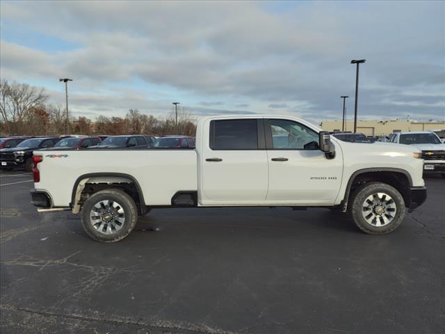
M60 141L60 138L29 138L19 143L15 148L3 148L0 150L0 167L6 170L24 168L31 172L33 169L33 152L42 148L52 148L58 141Z

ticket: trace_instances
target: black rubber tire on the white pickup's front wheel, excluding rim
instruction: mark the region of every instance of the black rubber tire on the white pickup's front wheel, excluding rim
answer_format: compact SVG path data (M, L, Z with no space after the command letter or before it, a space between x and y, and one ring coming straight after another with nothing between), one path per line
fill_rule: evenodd
M373 223L366 221L366 218L364 217L364 214L369 212L364 209L365 201L369 196L372 196L375 193L385 193L394 201L391 202L391 206L394 207L395 205L396 212L394 213L394 218L392 218L387 225L378 225L382 223L380 218L378 218L379 220L376 225L373 225ZM348 211L351 218L353 218L353 221L360 230L368 234L390 233L401 225L403 218L405 217L405 201L403 200L401 193L399 193L393 186L382 182L369 182L357 187L351 194L349 203L350 209Z

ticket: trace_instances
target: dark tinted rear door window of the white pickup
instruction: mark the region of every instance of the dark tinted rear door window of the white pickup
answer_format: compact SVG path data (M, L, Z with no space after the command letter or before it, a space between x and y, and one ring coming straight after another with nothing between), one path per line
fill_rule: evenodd
M212 150L257 150L257 120L212 120L210 148Z

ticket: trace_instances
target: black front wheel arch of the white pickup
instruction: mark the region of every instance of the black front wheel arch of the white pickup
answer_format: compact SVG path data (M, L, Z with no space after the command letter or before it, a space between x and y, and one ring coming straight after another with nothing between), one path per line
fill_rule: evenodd
M364 182L384 182L394 186L405 200L405 206L409 206L411 202L410 186L412 186L412 177L407 170L401 168L362 168L355 170L350 175L346 191L341 200L340 207L343 212L348 209L348 202L350 195L355 189L355 186L363 184Z

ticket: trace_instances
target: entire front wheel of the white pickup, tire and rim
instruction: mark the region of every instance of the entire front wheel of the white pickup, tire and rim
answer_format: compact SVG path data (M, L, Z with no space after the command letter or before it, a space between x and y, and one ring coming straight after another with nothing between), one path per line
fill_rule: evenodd
M369 182L350 198L350 215L360 230L369 234L390 233L403 221L405 201L393 186Z

